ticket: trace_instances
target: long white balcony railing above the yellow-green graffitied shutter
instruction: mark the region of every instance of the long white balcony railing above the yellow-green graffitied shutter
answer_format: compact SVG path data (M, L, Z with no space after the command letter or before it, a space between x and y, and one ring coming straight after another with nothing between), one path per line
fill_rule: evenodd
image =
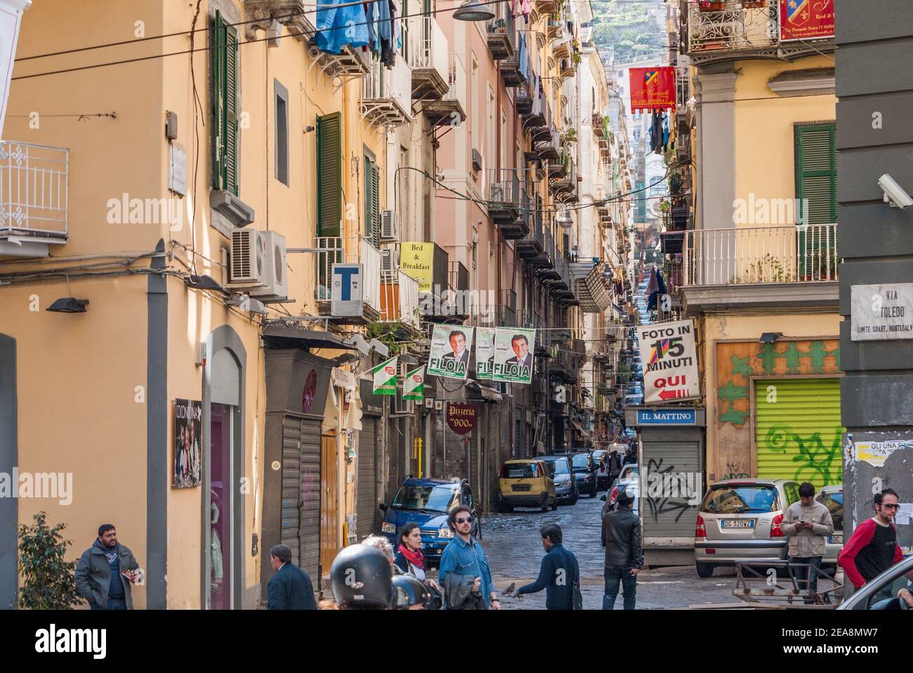
M682 232L684 286L837 279L837 226L757 226Z

